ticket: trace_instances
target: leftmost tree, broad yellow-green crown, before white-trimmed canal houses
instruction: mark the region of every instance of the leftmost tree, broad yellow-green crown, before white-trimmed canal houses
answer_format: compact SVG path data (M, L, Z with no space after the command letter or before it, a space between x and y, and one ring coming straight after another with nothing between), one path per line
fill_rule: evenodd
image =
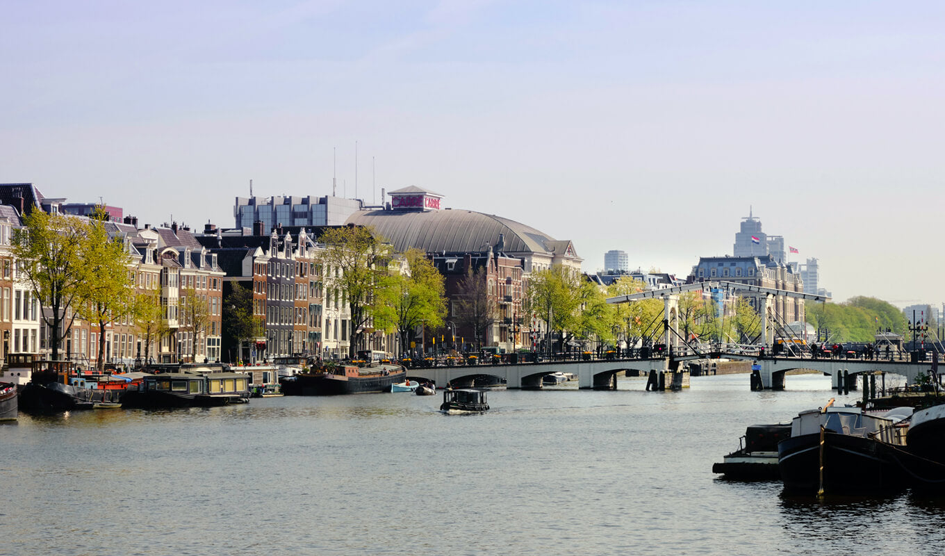
M59 359L60 341L76 319L76 304L92 278L86 260L89 224L78 217L46 214L34 209L13 231L13 257L30 289L40 300L49 329L52 358ZM70 309L72 309L70 311Z

